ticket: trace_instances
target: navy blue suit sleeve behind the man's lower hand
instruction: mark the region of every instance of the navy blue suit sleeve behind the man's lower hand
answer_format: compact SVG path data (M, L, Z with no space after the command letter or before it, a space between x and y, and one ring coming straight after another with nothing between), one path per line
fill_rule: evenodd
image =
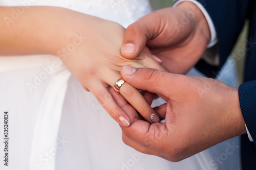
M245 124L256 145L256 80L240 85L239 101Z

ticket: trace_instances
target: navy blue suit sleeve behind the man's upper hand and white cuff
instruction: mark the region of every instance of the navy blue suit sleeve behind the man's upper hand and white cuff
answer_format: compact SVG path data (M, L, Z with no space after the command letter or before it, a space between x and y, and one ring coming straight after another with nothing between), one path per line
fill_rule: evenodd
M249 0L197 0L203 5L214 22L219 43L220 65L212 66L200 60L196 68L206 76L215 78L225 63L244 26Z

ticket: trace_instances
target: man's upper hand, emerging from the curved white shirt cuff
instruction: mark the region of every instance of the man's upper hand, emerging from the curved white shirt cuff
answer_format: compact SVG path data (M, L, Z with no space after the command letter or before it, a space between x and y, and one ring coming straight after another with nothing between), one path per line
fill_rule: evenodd
M198 62L209 40L210 30L201 10L193 3L182 2L175 8L147 14L130 25L121 55L133 59L147 45L169 72L185 74Z

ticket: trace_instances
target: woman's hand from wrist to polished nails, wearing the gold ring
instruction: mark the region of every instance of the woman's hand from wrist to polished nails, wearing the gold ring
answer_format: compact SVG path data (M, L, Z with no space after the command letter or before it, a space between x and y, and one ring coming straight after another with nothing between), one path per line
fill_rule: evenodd
M113 100L108 86L115 85L124 65L163 68L145 53L133 60L121 57L120 48L125 30L117 23L80 13L73 15L73 23L67 28L74 30L74 36L70 34L70 37L66 37L67 49L58 51L57 56L84 89L90 90L120 125L129 126L138 119L137 113L133 116L126 114ZM151 115L155 111L136 88L124 83L119 92L148 122L153 123ZM154 121L159 122L157 114Z

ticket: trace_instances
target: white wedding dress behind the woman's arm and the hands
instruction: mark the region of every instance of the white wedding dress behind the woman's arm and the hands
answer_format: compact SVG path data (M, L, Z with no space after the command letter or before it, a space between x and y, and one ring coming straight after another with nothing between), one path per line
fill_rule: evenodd
M146 0L0 0L0 5L65 7L123 27L151 11ZM240 169L238 138L177 163L125 145L119 125L54 56L1 56L0 80L1 139L4 111L9 112L9 162L4 165L1 142L1 170Z

